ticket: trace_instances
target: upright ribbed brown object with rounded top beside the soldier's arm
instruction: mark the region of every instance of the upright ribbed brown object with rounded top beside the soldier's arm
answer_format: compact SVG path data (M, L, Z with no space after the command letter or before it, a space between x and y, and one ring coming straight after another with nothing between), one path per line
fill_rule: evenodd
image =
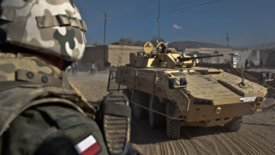
M108 94L102 104L103 130L110 154L126 154L130 144L130 106L120 92Z

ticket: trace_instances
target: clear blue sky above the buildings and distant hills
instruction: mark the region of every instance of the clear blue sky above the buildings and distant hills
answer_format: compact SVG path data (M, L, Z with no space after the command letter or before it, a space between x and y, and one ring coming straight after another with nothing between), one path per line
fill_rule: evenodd
M158 0L75 0L87 24L88 44L121 37L149 41L157 36ZM160 37L231 46L275 42L275 0L160 0Z

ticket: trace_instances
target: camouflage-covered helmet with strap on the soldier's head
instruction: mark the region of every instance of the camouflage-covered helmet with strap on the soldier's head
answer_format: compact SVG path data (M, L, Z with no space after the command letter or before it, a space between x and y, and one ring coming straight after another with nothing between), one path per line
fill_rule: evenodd
M0 0L0 42L78 61L87 30L71 0Z

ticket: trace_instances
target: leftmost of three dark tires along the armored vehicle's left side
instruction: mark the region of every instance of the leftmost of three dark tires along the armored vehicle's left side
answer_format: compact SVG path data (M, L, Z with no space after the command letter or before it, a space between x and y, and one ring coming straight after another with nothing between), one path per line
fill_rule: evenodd
M148 107L149 97L144 92L135 91L133 101L142 106ZM143 109L141 106L131 104L133 116L138 119L148 118L148 111Z

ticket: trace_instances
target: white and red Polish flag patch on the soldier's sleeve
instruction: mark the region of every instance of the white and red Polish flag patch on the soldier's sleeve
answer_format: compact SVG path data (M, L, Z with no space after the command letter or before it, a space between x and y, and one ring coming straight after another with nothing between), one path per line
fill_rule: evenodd
M80 155L94 155L101 150L101 147L94 136L90 135L78 144L75 144L75 149Z

